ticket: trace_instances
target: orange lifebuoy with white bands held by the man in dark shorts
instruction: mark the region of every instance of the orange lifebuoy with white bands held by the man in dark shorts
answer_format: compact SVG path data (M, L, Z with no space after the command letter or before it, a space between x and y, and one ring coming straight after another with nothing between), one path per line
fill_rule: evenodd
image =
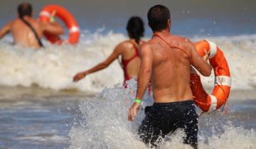
M198 54L205 55L205 50L210 50L209 62L215 73L215 83L213 92L207 94L203 89L200 76L191 73L191 89L193 101L203 111L213 111L219 109L228 100L231 87L230 70L223 51L215 43L202 40L194 44Z

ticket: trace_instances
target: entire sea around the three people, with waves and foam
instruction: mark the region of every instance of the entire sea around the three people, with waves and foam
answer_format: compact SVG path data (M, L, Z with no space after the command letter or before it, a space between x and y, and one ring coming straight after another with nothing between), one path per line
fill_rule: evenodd
M78 83L73 76L102 62L127 40L130 16L141 16L146 25L146 11L158 3L171 9L171 33L215 42L230 67L228 104L224 112L199 117L198 147L256 148L255 1L28 1L36 14L46 4L65 6L77 18L81 38L78 45L43 40L46 48L41 50L11 45L10 36L0 40L0 148L146 148L137 129L152 97L144 96L137 118L129 122L136 82L122 87L117 61ZM0 2L0 26L16 18L18 2ZM149 38L146 27L144 40ZM208 93L213 82L213 75L203 77ZM167 136L161 148L190 148L181 143L182 136L182 130Z

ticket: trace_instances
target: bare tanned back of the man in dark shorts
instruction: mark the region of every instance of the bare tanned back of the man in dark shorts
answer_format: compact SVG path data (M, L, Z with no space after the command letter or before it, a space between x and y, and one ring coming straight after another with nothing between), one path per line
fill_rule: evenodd
M203 75L210 75L210 71L206 72L207 65L199 64L204 62L195 55L193 43L187 38L163 32L155 33L144 46L150 48L153 59L151 81L154 84L154 102L192 100L189 86L191 62L196 62Z

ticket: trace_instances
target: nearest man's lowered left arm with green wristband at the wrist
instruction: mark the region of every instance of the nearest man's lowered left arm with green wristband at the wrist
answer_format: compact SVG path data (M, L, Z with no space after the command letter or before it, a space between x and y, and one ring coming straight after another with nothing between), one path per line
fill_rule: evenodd
M145 44L142 46L141 60L142 62L141 62L141 66L138 74L138 85L137 85L137 95L136 95L136 99L138 100L142 99L144 92L146 91L146 87L148 87L150 82L153 55L149 45ZM132 104L128 114L129 121L134 120L134 117L137 115L139 106L140 104L138 102L134 102L134 104Z

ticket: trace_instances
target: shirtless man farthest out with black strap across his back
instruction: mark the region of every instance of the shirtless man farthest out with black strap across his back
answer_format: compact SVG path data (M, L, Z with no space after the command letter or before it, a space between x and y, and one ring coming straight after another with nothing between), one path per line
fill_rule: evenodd
M41 48L42 45L38 39L43 36L44 31L55 35L63 34L63 28L60 24L56 22L47 23L37 21L32 18L32 14L31 4L23 3L18 5L18 18L1 28L0 39L11 32L15 45L21 45L23 48ZM38 39L36 38L36 34L33 33L31 28L23 20L31 24L36 31Z

